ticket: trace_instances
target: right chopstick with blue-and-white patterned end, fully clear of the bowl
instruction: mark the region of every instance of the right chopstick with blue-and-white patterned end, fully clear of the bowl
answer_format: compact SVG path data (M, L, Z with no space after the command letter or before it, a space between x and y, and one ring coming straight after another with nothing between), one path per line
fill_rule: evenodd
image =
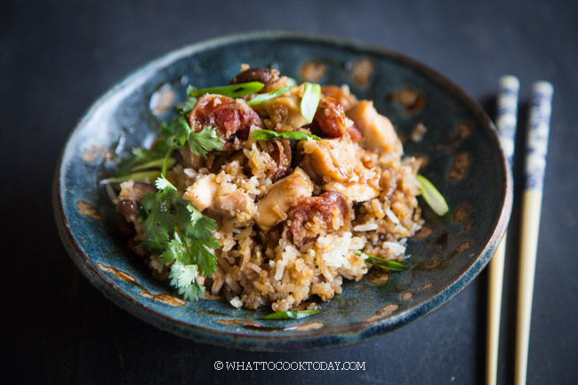
M549 82L534 83L528 120L526 180L522 196L518 270L518 319L516 322L516 363L514 369L514 383L517 385L526 384L536 250L540 229L542 190L546 170L553 93L554 87Z

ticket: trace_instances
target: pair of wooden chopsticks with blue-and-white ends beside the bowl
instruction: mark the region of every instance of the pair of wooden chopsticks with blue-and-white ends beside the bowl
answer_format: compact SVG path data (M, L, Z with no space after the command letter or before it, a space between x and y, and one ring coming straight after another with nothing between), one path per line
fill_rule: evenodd
M519 81L516 76L502 76L497 100L496 125L502 148L511 167L514 156L518 116ZM550 132L551 102L554 88L548 82L536 82L532 88L526 140L525 186L522 196L522 220L518 269L518 319L516 323L515 384L526 384L530 317L534 293L536 249L542 207L542 189ZM498 371L498 341L506 237L498 246L489 265L486 384L494 385Z

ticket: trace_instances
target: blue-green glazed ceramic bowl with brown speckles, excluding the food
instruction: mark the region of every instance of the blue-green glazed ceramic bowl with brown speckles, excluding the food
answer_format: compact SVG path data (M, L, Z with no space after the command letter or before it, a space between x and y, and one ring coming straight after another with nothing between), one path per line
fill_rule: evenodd
M150 143L160 120L171 117L171 113L155 116L149 108L151 95L163 84L179 101L187 84L226 84L241 63L277 66L301 81L301 69L310 60L320 65L320 83L349 84L357 98L373 100L407 138L406 156L428 157L421 173L443 192L450 213L439 218L424 207L427 229L408 242L410 269L391 274L386 285L373 285L366 278L346 282L343 293L313 317L265 321L261 318L269 314L267 310L234 309L219 299L182 301L151 276L120 235L120 218L99 186L109 172L104 149L128 152ZM359 66L370 70L368 79L356 75ZM404 87L421 95L413 108L396 97ZM418 123L428 131L423 140L414 142L409 137ZM397 52L342 38L286 32L193 44L126 77L76 125L57 166L53 190L62 242L78 269L108 299L182 337L269 351L349 345L438 309L484 269L506 229L511 200L510 173L494 124L444 76Z

